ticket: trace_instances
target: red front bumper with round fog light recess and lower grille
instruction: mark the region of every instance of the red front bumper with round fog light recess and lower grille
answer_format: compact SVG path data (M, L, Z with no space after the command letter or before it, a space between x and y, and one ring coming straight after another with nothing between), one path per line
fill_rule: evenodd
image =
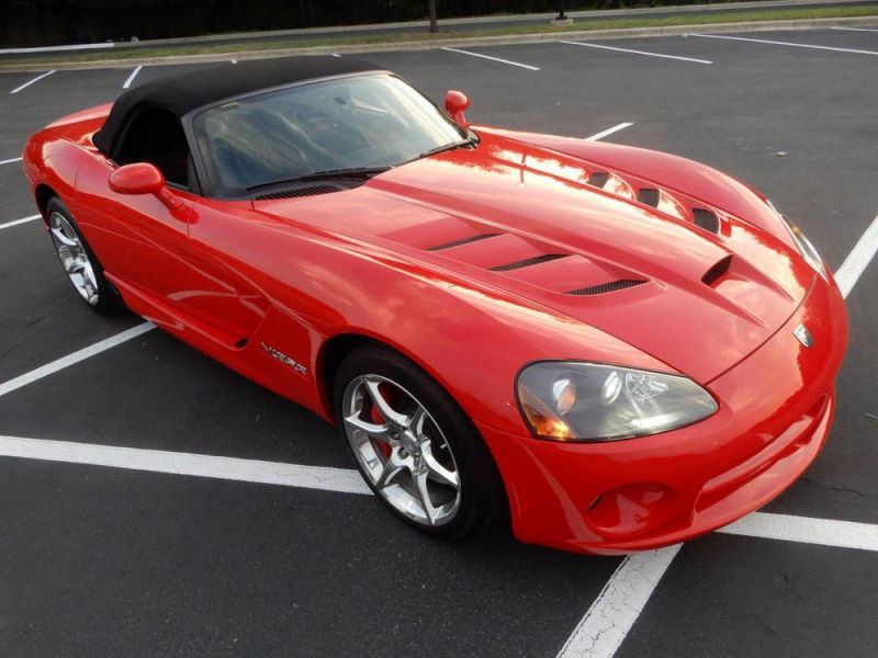
M792 331L803 324L806 348ZM765 344L706 385L719 411L694 426L610 443L558 443L479 426L522 542L619 554L709 532L762 507L817 457L835 410L847 315L834 283Z

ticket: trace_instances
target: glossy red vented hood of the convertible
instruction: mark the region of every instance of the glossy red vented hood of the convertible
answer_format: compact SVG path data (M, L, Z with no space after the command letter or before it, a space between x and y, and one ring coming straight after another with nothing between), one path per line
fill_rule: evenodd
M763 344L814 280L745 218L491 134L352 190L254 207L503 288L700 383Z

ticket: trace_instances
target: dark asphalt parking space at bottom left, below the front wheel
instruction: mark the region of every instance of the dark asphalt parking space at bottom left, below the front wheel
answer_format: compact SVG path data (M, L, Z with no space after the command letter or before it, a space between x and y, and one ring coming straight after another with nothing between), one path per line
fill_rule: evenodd
M615 560L448 546L363 496L3 461L7 656L547 655Z

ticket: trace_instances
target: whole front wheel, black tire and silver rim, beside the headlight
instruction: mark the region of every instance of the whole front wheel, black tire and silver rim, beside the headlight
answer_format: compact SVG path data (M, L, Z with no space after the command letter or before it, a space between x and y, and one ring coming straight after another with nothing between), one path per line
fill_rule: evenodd
M429 375L385 348L362 348L339 368L338 422L360 473L409 525L454 538L505 506L497 467L470 419Z

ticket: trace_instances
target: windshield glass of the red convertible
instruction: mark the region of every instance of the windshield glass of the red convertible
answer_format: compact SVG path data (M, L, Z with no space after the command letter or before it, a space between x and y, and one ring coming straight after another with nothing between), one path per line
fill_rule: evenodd
M211 184L227 196L326 171L394 167L465 137L387 73L237 99L200 113L192 126Z

